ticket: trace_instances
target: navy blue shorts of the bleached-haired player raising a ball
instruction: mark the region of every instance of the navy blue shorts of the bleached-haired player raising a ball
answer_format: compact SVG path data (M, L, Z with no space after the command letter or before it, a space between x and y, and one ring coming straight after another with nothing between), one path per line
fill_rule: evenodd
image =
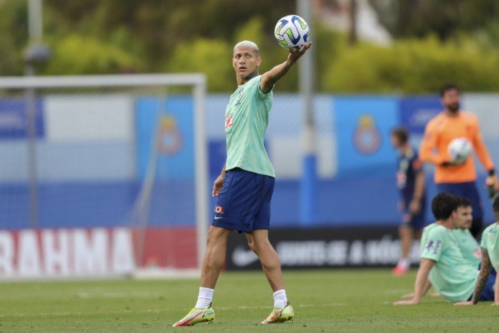
M228 170L215 206L213 226L251 233L269 229L275 178L239 168Z

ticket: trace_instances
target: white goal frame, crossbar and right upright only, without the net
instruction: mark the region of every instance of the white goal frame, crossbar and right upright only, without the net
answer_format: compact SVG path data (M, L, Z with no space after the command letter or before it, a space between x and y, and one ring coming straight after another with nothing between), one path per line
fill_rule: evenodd
M192 96L194 98L197 269L200 271L201 262L206 251L206 237L208 234L208 154L205 131L206 75L201 73L179 73L0 77L0 89L172 86L192 87Z

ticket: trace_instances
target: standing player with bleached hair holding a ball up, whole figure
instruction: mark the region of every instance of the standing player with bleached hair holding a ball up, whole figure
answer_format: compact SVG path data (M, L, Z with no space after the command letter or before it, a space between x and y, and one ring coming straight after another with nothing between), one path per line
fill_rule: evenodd
M260 259L273 290L274 309L262 324L282 323L294 316L284 290L278 254L269 242L275 172L266 154L264 134L275 82L286 75L311 45L290 51L285 62L262 75L258 73L262 57L255 43L239 42L233 49L232 64L238 87L226 109L227 159L224 170L213 183L212 196L218 200L208 231L199 296L194 308L173 326L189 326L215 318L211 306L213 291L225 264L227 238L233 230L246 233L249 247Z

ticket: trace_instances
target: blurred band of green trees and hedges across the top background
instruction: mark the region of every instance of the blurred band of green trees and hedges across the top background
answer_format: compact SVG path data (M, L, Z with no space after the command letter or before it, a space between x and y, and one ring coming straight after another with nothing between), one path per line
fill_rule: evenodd
M369 0L394 35L392 46L360 42L314 24L321 92L499 91L499 1ZM210 91L233 91L232 48L260 46L260 72L283 62L273 28L296 1L44 0L44 41L53 58L42 74L202 72ZM324 3L327 3L325 1ZM21 75L28 45L27 0L0 0L0 75ZM298 89L298 69L276 86Z

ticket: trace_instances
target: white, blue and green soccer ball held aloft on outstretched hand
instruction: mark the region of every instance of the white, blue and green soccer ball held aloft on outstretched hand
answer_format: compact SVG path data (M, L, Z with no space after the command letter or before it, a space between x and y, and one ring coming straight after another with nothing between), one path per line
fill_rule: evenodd
M296 51L309 41L309 25L298 15L287 15L275 24L274 36L280 46Z

